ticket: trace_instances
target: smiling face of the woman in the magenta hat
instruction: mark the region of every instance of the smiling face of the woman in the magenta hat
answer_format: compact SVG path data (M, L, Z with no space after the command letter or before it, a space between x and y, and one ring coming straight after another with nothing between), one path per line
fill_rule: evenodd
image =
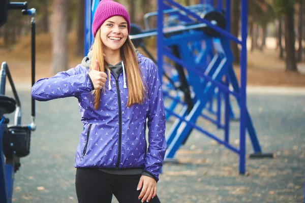
M101 40L105 48L119 50L128 37L128 25L121 16L108 18L101 26Z

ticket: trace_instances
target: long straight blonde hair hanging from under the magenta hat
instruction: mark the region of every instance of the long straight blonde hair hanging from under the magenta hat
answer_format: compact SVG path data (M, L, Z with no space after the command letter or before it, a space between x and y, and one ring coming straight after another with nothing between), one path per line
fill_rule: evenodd
M103 43L101 40L101 33L100 29L96 33L95 41L91 49L93 51L92 61L89 68L89 71L92 70L94 67L94 61L98 60L100 63L99 71L105 72L105 66L110 73L109 69L107 68L107 62L104 60L104 49ZM126 42L120 48L120 56L124 61L124 66L126 68L126 78L127 78L127 86L128 86L128 101L127 107L132 106L133 104L142 104L145 95L145 87L141 77L141 71L139 69L139 64L137 61L137 55L135 52L135 47L129 37L127 37ZM110 74L108 74L108 82L109 82ZM105 86L102 90L95 89L93 90L94 94L94 108L97 110L100 105L101 99L101 91L105 92ZM119 92L118 92L119 94Z

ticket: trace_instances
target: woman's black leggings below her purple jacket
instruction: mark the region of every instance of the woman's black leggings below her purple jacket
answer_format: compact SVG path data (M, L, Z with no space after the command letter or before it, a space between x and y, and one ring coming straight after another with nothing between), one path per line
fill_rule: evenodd
M111 203L112 194L120 203L141 202L137 191L140 175L113 175L95 168L77 168L76 194L79 203ZM145 201L146 202L146 201ZM151 203L160 203L158 196Z

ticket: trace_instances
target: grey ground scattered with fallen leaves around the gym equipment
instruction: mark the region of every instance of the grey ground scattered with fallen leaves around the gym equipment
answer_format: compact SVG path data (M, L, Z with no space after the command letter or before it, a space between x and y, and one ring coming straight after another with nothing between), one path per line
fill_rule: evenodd
M10 92L8 92L10 94ZM29 123L31 97L21 91L22 123ZM158 183L162 202L302 202L305 172L305 95L248 95L248 108L263 152L273 159L249 159L247 176L238 174L238 156L193 131L176 153L179 164L165 164ZM37 130L31 154L15 175L13 202L77 202L74 153L82 130L77 99L37 104ZM232 100L234 112L238 108ZM14 115L9 116L12 121ZM167 124L170 129L172 120ZM220 138L223 132L203 119L198 125ZM230 143L238 146L238 122ZM253 152L247 138L247 155ZM117 202L113 198L112 202Z

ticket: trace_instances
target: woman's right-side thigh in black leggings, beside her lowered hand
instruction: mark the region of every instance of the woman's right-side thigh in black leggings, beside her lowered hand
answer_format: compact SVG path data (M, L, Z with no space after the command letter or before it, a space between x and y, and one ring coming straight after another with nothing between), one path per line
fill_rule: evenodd
M141 202L141 199L138 199L141 190L137 190L140 177L141 175L118 175L113 194L119 203ZM149 202L160 203L160 200L155 196Z

